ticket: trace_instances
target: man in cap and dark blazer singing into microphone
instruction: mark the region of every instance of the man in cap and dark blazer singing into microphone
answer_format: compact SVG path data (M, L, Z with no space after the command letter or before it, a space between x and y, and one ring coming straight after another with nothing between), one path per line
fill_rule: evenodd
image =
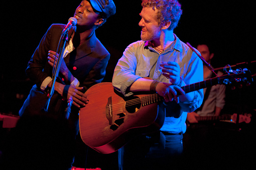
M74 13L77 25L68 30L68 41L64 47L59 77L54 84L54 94L51 97L47 112L42 108L45 107L53 84L52 72L53 66L56 65L54 59L57 59L58 54L60 54L59 51L57 52L57 47L65 25L52 24L43 36L26 69L27 76L35 85L19 112L21 121L28 117L34 121L26 128L41 128L38 129L36 135L33 134L33 137L27 141L35 140L34 143L37 143L36 141L40 141L40 143L26 148L26 142L20 142L21 147L19 149L23 149L24 156L19 156L17 166L28 167L34 163L37 169L49 169L49 167L52 169L71 169L74 157L74 147L71 146L71 143L75 143L75 137L79 131L78 113L80 108L85 107L89 102L84 93L88 88L103 80L110 57L109 52L96 38L95 30L114 14L115 5L112 0L83 0L77 7ZM66 119L65 112L68 100L72 100L72 107L70 116ZM38 116L41 117L41 120L45 120L43 124L40 124L38 118L35 118ZM49 119L53 121L48 121ZM56 128L56 122L60 121L67 122L68 130ZM29 129L20 133L19 136L29 133ZM59 131L52 134L57 129ZM44 132L45 135L41 136L40 132ZM60 134L67 136L63 138L60 137ZM56 141L54 143L58 144L48 142L49 140ZM41 153L32 152L38 146L40 146ZM49 150L49 148L54 149ZM36 159L37 155L33 154L41 154L43 158ZM28 162L26 155L35 160Z

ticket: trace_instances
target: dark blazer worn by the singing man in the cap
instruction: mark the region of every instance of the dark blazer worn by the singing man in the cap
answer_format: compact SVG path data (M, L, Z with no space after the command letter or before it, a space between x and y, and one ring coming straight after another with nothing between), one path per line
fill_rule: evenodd
M57 46L64 26L65 25L61 24L51 25L29 61L26 73L28 77L35 82L35 85L24 102L24 105L19 112L20 115L23 115L24 113L39 113L48 99L47 93L43 92L40 89L40 86L46 77L52 77L53 68L48 64L47 55L49 50L57 51ZM68 32L68 42L73 31L74 27ZM80 86L84 87L83 92L85 92L88 88L103 80L109 57L110 54L96 38L94 32L85 43L68 54L64 58L64 61L72 75L80 82ZM61 79L58 79L57 81L62 82ZM49 112L58 115L63 114L66 107L67 101L63 101L62 97L55 92L51 98ZM78 108L73 106L71 108L71 115L74 111L78 112L78 110Z

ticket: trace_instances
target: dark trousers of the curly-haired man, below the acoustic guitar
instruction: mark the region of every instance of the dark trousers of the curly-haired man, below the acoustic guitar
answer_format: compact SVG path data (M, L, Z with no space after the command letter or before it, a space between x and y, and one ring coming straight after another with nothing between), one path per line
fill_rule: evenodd
M183 134L156 132L141 135L118 150L120 170L162 169L180 161Z

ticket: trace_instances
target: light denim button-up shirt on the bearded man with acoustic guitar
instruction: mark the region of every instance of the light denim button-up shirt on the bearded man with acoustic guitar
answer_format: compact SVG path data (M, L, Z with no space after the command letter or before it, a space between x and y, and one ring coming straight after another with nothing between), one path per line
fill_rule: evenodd
M131 96L133 92L127 91L137 79L150 77L153 80L170 83L170 80L162 75L160 63L162 61L174 61L179 64L180 76L186 85L203 81L203 64L201 59L174 34L174 43L161 54L150 46L148 41L137 41L130 44L123 52L114 69L112 85L124 96ZM198 52L199 53L199 52ZM190 92L194 95L191 102L175 101L161 103L159 113L165 112L166 118L160 130L171 133L186 131L187 112L192 112L203 101L203 89Z

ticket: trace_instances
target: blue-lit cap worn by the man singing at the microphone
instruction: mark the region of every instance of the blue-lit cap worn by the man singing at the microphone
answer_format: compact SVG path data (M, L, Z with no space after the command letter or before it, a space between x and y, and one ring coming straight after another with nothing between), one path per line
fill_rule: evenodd
M115 5L112 0L89 0L91 6L98 12L104 13L106 18L115 14Z

